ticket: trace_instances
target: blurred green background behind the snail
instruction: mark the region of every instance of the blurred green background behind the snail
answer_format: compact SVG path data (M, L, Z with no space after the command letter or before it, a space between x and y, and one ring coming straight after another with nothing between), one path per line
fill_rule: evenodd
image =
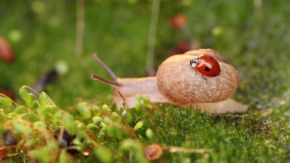
M44 89L58 106L80 99L110 103L112 87L89 79L110 79L94 52L118 77L144 77L152 1L85 0L84 6L84 46L77 56L76 0L1 0L0 36L11 43L15 61L0 61L0 88L18 99L22 85L33 86L64 61L69 73ZM186 18L177 30L169 23L176 14ZM273 107L290 96L289 18L290 2L282 0L161 0L154 67L182 40L214 49L240 75L235 99L251 109Z

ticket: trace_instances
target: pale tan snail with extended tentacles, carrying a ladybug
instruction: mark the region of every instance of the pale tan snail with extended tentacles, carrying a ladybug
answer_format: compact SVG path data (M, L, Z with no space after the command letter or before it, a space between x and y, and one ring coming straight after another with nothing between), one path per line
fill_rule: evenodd
M216 60L220 72L215 76L196 71L199 70L195 67L197 58L202 58L200 56L203 55ZM173 55L159 65L156 77L145 78L118 78L96 54L94 57L114 81L95 75L91 75L90 78L112 85L114 87L113 99L119 107L123 106L123 99L118 91L125 98L129 108L135 107L138 94L147 97L151 102L179 106L192 104L194 107L200 107L201 111L214 114L229 111L245 112L248 108L231 99L238 87L238 74L228 64L227 59L212 49L199 49Z

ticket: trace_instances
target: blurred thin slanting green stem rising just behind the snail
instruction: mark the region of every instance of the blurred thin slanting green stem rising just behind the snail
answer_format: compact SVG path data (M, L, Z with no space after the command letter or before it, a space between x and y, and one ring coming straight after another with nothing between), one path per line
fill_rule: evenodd
M159 16L160 0L152 0L152 11L149 25L148 42L147 42L147 56L146 56L146 71L153 70L154 63L154 46L156 29Z

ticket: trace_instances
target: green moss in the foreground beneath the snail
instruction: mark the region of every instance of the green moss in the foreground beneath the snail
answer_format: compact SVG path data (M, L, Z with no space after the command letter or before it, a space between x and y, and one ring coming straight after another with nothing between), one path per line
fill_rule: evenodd
M47 96L47 98L50 97ZM59 154L56 151L71 148L80 152L71 159L82 158L81 153L88 153L93 154L90 156L92 160L96 159L101 162L131 159L133 162L146 162L143 156L144 147L154 143L162 144L164 149L177 146L184 149L213 150L206 153L164 152L161 157L166 161L285 162L289 160L288 115L266 114L260 110L251 110L252 113L247 115L215 116L208 113L201 114L200 109L196 110L192 107L178 108L163 104L158 105L160 109L158 111L148 109L147 105L149 103L140 106L139 109L130 109L133 115L131 125L126 122L126 117L121 116L123 109L116 107L110 109L114 113L113 116L109 116L110 114L104 110L99 116L101 122L87 120L86 116L78 116L79 112L70 111L68 113L58 109L55 114L59 114L57 117L62 117L59 122L59 118L54 119L52 118L54 116L50 115L54 112L41 111L44 109L42 106L34 110L27 108L23 113L27 117L17 116L16 113L11 112L15 116L4 123L6 128L9 127L9 131L2 129L1 135L3 140L7 139L7 133L11 131L12 135L8 135L10 139L11 136L20 136L21 141L24 141L22 143L26 143L29 148L34 149L28 152L30 159L32 157L43 162L51 162L56 159ZM94 104L86 104L88 111L94 107ZM278 109L281 111L282 108ZM5 113L4 110L2 112ZM160 112L166 116L161 117ZM261 114L262 116L259 117ZM273 115L280 115L279 121L271 120L274 118ZM122 117L122 120L116 121L116 117ZM61 124L69 135L76 135L72 141L74 146L46 146L59 139L58 137L53 138L53 132L62 126ZM148 134L149 128L152 129L150 134ZM63 139L65 140L67 137L63 137ZM24 148L27 147L24 146ZM112 153L116 155L112 155ZM47 157L47 155L53 157ZM18 158L25 159L25 156L20 155ZM63 152L59 157L64 157ZM16 158L10 158L10 160L14 159Z

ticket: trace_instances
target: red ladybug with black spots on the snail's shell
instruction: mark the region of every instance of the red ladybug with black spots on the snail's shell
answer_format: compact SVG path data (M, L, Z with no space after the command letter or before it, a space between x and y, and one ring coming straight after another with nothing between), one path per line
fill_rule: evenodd
M203 79L204 76L216 77L221 74L219 62L209 55L196 56L190 60L189 66L195 68L196 74L198 70L203 75ZM205 80L207 85L207 79Z

